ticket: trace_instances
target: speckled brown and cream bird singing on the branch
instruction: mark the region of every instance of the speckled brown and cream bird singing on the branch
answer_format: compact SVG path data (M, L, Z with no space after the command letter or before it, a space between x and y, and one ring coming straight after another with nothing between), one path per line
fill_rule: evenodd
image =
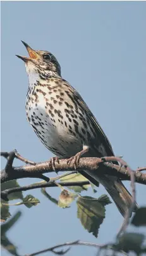
M25 104L27 120L40 141L58 160L67 158L75 167L80 157L114 156L113 148L82 96L61 76L61 66L49 51L32 49L21 41L27 56L16 55L25 62L28 91ZM118 177L83 170L82 175L98 182L113 198L121 215L131 207L132 197ZM136 211L138 208L135 202Z

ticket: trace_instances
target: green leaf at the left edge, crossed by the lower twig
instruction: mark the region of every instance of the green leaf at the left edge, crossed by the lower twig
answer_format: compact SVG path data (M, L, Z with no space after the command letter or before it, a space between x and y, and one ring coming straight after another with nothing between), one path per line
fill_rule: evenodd
M9 188L18 188L20 187L20 185L18 184L17 181L8 181L8 182L4 182L3 184L1 184L1 191L5 190L5 189L9 189ZM9 200L16 200L16 199L21 199L23 200L23 194L21 191L15 192L15 193L11 193L8 195L8 199Z

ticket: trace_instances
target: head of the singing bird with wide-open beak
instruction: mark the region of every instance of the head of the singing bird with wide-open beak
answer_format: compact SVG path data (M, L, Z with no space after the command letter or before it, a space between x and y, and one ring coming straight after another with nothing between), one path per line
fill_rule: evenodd
M26 42L23 44L27 48L29 57L16 56L25 61L28 75L38 74L40 79L44 80L49 77L61 77L61 67L52 53L33 50Z

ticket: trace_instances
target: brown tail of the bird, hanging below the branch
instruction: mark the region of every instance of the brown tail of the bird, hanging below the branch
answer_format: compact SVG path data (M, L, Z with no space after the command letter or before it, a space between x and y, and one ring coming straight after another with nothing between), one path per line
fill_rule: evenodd
M86 170L85 172L88 175L87 178L90 180L91 172L88 172L88 170ZM124 184L118 179L118 177L107 175L97 176L94 173L92 174L92 179L90 181L93 182L95 185L96 183L94 181L98 181L100 184L102 184L102 186L104 186L104 188L106 188L114 203L116 203L119 212L124 217L128 208L131 207L132 196L125 188ZM135 202L135 208L133 212L135 212L137 208L138 205Z

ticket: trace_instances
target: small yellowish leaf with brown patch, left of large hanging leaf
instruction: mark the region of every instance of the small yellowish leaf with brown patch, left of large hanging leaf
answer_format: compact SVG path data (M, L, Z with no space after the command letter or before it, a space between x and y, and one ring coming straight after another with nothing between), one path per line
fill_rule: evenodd
M58 200L58 206L61 208L66 208L68 207L77 197L75 193L71 193L70 191L63 189L61 191L61 194L59 195L59 200Z

